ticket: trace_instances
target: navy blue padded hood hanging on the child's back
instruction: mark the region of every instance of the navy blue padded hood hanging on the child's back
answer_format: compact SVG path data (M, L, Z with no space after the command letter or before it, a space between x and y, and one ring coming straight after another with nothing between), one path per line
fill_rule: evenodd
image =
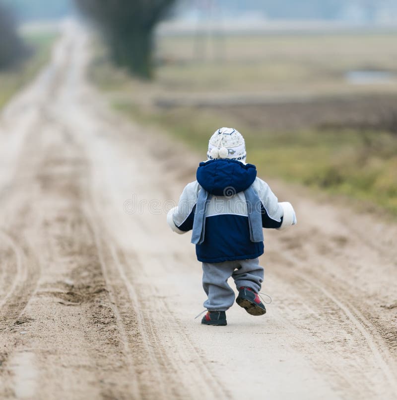
M237 160L209 160L200 162L196 176L200 186L207 192L215 196L231 196L254 183L257 168Z

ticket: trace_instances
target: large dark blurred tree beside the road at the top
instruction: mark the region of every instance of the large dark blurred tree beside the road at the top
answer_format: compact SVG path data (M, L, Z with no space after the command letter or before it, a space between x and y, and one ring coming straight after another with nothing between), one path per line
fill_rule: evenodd
M154 27L175 0L74 1L99 27L117 65L141 78L152 77Z

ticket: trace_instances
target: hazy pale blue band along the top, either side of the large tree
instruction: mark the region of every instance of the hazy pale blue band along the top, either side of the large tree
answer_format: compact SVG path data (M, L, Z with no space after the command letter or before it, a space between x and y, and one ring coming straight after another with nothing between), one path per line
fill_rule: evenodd
M127 0L128 1L128 0ZM71 0L0 0L23 19L56 18L71 12ZM186 18L329 19L395 22L397 0L179 0Z

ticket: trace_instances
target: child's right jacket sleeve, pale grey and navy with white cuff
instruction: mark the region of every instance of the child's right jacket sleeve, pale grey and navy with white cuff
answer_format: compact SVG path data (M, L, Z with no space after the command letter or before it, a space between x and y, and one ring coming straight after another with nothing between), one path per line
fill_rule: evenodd
M296 224L295 211L288 202L278 202L269 185L260 178L253 183L254 190L261 199L262 226L283 230Z

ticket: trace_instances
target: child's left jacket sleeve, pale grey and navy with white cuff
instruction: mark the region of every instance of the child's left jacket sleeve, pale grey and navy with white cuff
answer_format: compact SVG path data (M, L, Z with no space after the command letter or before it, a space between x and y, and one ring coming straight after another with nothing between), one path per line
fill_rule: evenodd
M168 212L167 223L177 234L182 235L193 229L198 192L199 183L189 183L179 198L178 206Z

